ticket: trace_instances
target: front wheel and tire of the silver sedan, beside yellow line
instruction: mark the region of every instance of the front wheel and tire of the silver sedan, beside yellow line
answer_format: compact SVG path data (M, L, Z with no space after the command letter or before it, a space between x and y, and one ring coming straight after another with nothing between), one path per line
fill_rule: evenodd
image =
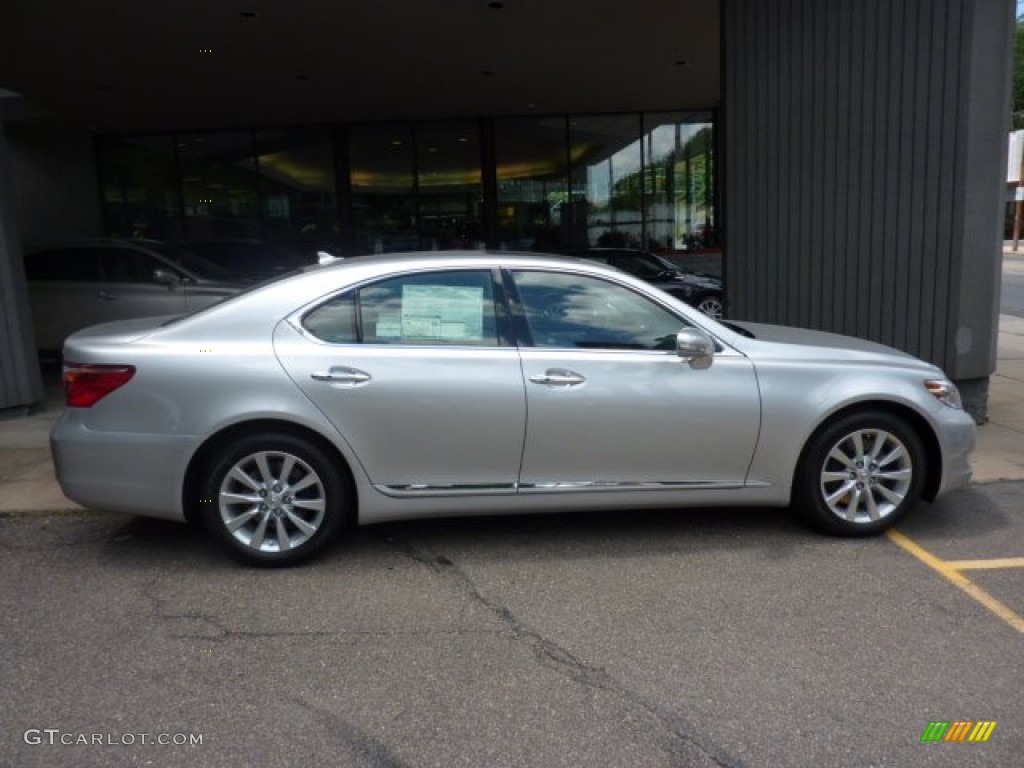
M927 471L921 437L904 420L881 411L854 413L826 424L808 442L794 504L819 530L872 536L910 511Z

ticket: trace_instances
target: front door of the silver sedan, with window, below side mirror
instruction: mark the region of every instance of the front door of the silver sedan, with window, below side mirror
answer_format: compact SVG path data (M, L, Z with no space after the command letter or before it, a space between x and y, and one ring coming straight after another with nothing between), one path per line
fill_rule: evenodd
M754 367L723 348L675 353L686 322L632 287L511 271L526 386L522 490L734 486L760 429Z

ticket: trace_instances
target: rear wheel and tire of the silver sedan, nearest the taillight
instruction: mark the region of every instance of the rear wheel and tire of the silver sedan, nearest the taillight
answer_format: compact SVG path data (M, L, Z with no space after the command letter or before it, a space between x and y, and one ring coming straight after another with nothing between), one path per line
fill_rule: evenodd
M252 565L295 565L345 523L352 493L316 444L287 433L253 434L209 463L199 507L214 538Z

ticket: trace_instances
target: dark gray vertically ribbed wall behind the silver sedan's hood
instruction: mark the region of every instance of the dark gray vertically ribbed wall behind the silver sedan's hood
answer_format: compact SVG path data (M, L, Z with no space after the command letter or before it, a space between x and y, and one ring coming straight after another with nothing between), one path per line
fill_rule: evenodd
M725 0L735 317L994 370L1013 0Z

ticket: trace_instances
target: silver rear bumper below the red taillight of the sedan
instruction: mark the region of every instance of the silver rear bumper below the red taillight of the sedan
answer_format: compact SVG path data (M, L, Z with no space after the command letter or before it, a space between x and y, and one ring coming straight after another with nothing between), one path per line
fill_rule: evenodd
M68 409L50 431L65 496L83 507L167 520L185 519L181 488L191 436L97 432Z

